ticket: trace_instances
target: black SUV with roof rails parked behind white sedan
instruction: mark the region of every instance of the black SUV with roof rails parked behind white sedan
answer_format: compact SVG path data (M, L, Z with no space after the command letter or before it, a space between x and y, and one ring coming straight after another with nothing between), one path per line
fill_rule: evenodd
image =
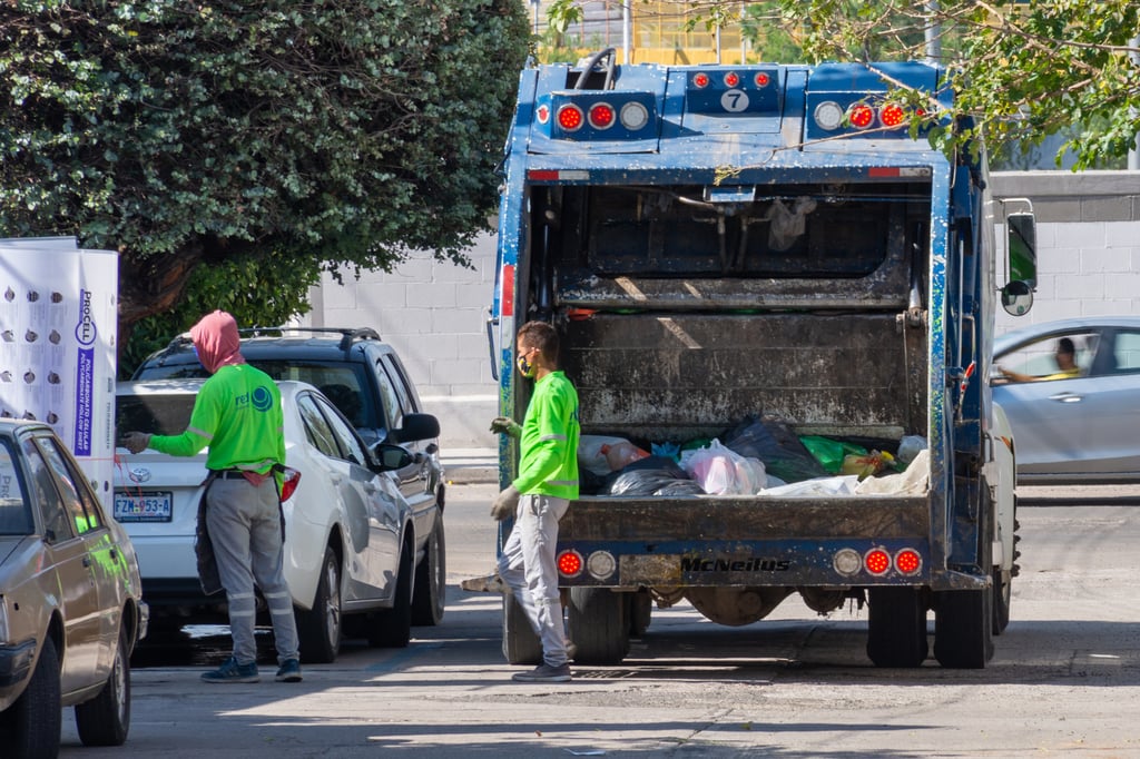
M356 426L369 448L399 443L415 463L394 472L412 505L416 532L413 625L443 618L447 564L443 544L443 470L439 421L422 411L416 389L392 346L367 327L242 329L242 356L274 379L315 385ZM189 334L152 353L131 379L207 377Z

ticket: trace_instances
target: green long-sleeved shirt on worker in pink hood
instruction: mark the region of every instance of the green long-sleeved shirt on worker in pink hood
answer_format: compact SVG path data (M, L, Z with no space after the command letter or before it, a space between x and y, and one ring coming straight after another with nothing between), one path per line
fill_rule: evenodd
M272 378L249 364L223 366L202 384L180 435L152 435L150 448L194 456L206 446L207 470L267 473L285 463L285 417Z

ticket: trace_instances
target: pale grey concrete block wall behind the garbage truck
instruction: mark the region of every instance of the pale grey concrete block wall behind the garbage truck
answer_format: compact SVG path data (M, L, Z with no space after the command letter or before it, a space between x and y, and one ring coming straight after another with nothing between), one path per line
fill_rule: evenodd
M1140 174L1003 172L1000 198L1028 197L1037 217L1039 283L1033 310L996 317L997 332L1098 313L1140 313ZM314 326L374 327L399 351L426 410L440 418L447 449L496 444L497 414L487 317L495 239L470 251L473 269L413 254L393 274L363 272L312 292Z

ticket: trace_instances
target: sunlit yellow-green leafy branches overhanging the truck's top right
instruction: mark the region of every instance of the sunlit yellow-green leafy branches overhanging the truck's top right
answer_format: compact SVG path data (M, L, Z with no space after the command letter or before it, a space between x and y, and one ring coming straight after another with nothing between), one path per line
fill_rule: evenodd
M629 1L636 14L642 3ZM581 2L554 0L551 25L580 19ZM796 60L774 56L799 51L808 63L925 59L930 42L937 42L939 63L958 93L954 112L939 113L917 93L896 96L922 106L927 119L959 125L933 132L947 150L979 130L995 150L1064 134L1058 162L1070 150L1074 169L1086 169L1118 162L1140 133L1135 0L702 0L685 6L691 24L742 23L764 58L780 63ZM766 39L775 44L760 42Z

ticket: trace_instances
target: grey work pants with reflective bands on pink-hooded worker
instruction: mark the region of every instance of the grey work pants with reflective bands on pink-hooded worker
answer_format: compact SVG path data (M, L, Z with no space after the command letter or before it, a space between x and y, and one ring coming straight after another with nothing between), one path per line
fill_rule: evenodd
M214 480L206 492L206 525L229 604L234 659L239 664L258 659L254 582L269 606L277 662L300 659L293 598L282 569L282 522L272 478L256 488L244 479Z

